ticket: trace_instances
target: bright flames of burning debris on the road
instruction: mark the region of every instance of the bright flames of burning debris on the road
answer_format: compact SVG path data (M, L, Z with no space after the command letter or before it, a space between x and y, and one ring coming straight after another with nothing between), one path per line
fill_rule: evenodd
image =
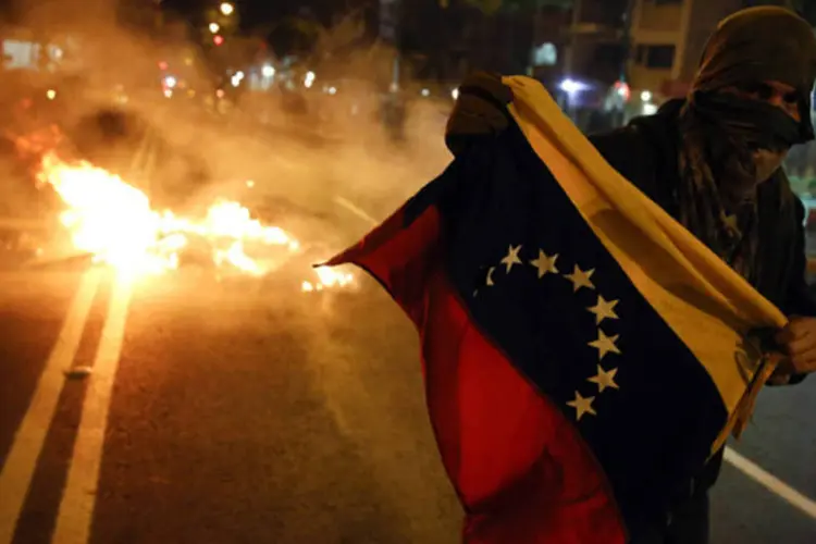
M145 193L85 161L69 163L55 152L42 154L37 178L51 186L66 209L60 215L73 247L128 274L161 274L186 262L262 276L274 267L250 255L270 248L296 254L300 244L277 226L254 219L235 201L214 202L200 219L152 209ZM348 273L314 269L302 290L345 287Z

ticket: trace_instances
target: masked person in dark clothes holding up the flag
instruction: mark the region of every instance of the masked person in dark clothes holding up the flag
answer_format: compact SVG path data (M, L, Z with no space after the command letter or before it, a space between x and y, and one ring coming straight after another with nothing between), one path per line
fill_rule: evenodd
M718 25L685 99L590 138L623 177L790 317L775 338L788 356L776 384L816 370L804 208L781 169L791 146L814 138L814 77L811 26L782 8L750 8ZM457 153L506 127L511 99L498 76L468 78L448 121L448 148ZM677 490L666 526L655 528L650 544L708 542L708 490L721 462L722 452Z

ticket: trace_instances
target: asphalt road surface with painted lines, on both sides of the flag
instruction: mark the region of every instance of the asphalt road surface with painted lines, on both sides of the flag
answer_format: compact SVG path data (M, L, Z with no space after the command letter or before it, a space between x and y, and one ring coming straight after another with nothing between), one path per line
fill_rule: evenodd
M300 287L411 189L331 188L289 191L304 250L263 279L0 273L0 544L458 541L408 320ZM713 542L816 542L814 415L814 380L762 394Z

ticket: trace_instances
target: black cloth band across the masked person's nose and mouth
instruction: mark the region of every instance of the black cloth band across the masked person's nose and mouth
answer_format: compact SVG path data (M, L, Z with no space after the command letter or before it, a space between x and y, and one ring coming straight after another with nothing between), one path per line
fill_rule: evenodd
M811 139L803 123L761 100L726 92L696 91L692 103L700 118L738 133L752 149L783 151Z

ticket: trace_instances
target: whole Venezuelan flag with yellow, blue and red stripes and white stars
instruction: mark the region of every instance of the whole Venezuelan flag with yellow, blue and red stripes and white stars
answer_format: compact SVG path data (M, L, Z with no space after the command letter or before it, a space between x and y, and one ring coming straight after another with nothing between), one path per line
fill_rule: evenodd
M471 543L618 543L744 425L784 317L623 180L536 82L358 245L421 336Z

